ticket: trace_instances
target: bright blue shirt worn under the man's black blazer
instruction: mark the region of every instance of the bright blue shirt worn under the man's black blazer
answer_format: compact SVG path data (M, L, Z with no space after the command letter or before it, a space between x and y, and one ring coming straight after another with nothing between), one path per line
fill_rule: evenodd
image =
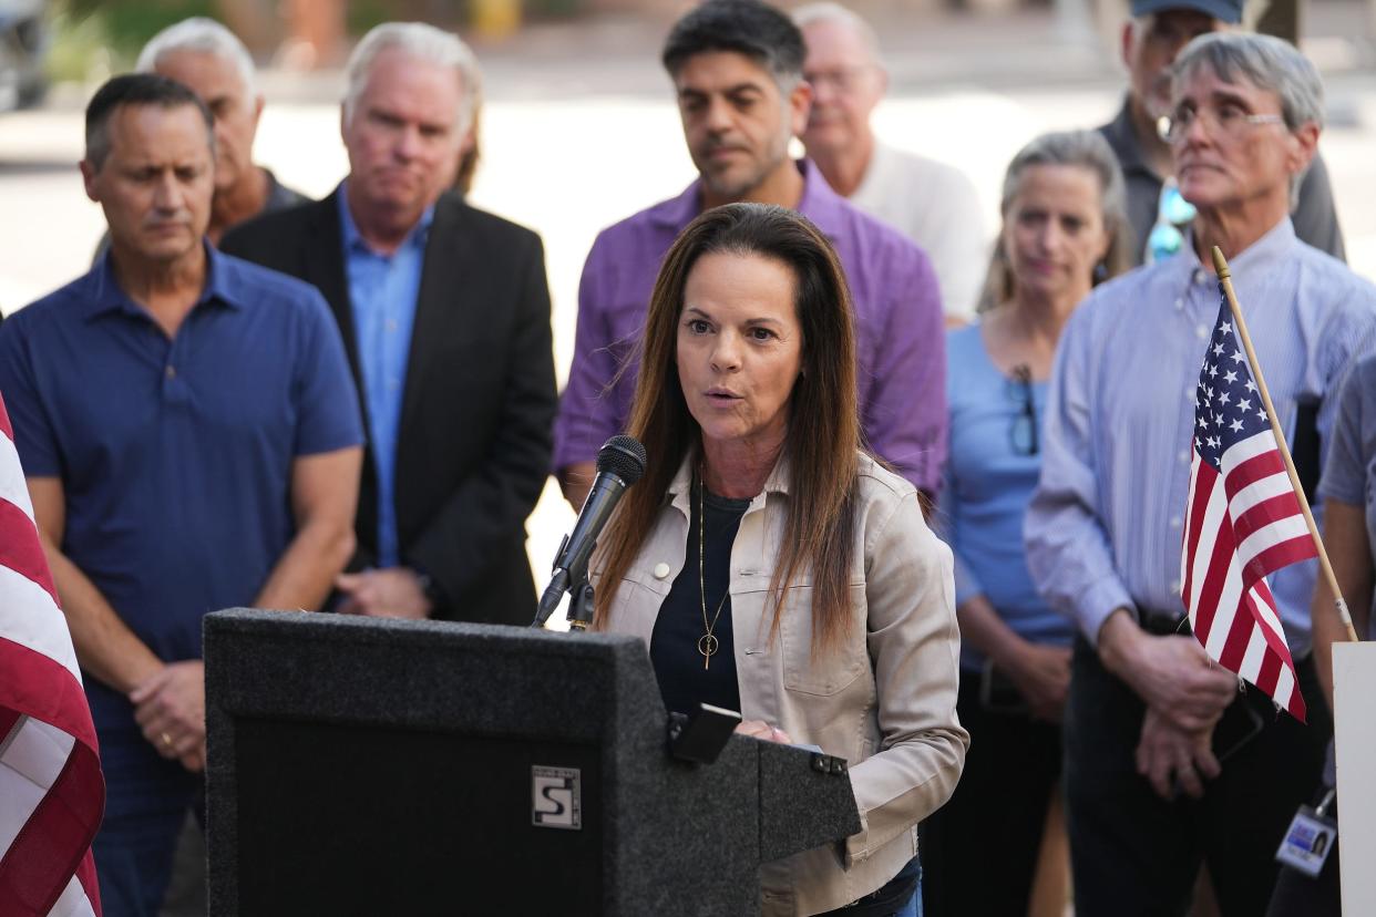
M421 290L425 241L435 219L427 208L394 254L374 252L359 235L348 209L347 183L336 195L344 235L344 275L354 313L354 340L363 375L369 448L377 467L377 565L400 562L396 535L396 434L411 352L416 298Z

